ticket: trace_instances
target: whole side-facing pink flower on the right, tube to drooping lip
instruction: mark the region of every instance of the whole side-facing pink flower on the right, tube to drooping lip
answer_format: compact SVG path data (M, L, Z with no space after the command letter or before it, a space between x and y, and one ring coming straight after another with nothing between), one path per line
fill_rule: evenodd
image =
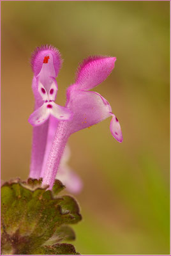
M48 184L49 189L52 189L64 147L73 132L98 124L112 116L110 122L112 136L119 142L123 141L121 126L112 113L110 104L99 93L89 91L108 77L114 68L115 60L116 58L108 56L94 56L84 60L78 68L76 81L71 84L66 94L65 107L73 116L67 121L53 118L50 125L52 140L48 140L46 161L41 170L43 184Z

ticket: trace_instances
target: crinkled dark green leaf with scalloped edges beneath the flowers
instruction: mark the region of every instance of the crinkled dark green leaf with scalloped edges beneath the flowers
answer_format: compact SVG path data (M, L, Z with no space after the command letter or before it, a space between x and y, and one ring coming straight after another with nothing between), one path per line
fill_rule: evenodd
M75 239L68 224L82 219L71 196L58 196L64 188L56 180L52 191L41 179L11 180L1 188L1 254L75 255Z

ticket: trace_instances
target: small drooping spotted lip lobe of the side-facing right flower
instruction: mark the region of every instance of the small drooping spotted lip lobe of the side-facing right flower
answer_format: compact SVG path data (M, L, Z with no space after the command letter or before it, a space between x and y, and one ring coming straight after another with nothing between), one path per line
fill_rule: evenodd
M119 124L117 117L113 113L112 113L112 120L110 122L110 132L112 133L112 135L117 141L119 142L123 141L121 125Z

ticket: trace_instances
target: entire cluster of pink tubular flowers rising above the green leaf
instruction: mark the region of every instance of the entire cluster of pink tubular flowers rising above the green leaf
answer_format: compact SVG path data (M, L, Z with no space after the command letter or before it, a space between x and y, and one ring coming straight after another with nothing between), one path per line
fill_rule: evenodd
M110 104L99 93L89 91L109 76L115 60L108 56L84 60L78 68L75 83L67 90L66 106L61 107L54 102L57 94L55 78L62 62L59 51L48 45L34 51L31 64L35 106L29 117L34 127L29 176L35 179L42 177L43 184L48 184L49 189L52 189L56 175L61 177L70 191L77 192L82 186L63 156L68 138L74 132L112 116L112 136L119 142L123 141L121 126Z

